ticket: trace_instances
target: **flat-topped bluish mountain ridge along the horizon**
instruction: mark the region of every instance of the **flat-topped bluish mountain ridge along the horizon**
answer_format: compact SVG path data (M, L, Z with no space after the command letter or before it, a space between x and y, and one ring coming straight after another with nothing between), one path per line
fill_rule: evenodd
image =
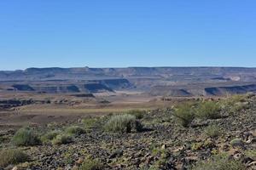
M108 78L168 78L173 76L232 77L232 75L253 76L256 68L247 67L127 67L127 68L28 68L24 71L0 71L1 81L13 80L55 80L55 79L105 79ZM242 77L241 77L242 78Z

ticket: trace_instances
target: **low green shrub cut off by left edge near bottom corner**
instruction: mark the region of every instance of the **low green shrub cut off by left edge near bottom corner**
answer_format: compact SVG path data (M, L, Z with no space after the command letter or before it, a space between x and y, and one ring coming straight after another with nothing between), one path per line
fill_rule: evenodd
M29 156L20 150L0 151L0 167L7 167L9 164L18 164L25 161L29 161Z

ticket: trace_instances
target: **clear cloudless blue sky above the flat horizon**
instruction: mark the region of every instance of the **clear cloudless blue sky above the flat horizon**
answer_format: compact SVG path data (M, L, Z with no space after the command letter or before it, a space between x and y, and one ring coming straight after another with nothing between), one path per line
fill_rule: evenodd
M256 1L0 1L0 70L86 65L256 66Z

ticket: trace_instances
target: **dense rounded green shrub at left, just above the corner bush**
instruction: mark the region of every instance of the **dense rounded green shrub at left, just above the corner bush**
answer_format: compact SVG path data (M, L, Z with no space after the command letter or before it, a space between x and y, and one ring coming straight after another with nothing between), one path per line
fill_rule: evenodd
M30 127L20 128L15 136L12 138L12 143L17 146L28 146L40 144L38 134L35 133Z

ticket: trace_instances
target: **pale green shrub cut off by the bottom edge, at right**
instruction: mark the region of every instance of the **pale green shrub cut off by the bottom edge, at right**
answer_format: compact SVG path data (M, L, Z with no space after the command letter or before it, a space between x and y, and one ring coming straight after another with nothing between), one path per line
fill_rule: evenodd
M228 156L217 155L207 161L198 161L192 170L245 170L246 167L240 162L230 160Z

